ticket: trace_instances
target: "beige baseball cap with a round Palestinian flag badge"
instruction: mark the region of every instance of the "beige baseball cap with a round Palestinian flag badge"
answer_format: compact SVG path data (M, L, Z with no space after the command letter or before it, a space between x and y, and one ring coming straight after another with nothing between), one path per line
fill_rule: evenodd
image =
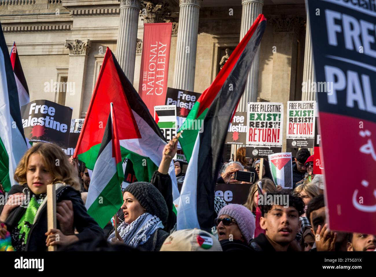
M160 251L222 251L222 247L212 234L194 228L170 234Z

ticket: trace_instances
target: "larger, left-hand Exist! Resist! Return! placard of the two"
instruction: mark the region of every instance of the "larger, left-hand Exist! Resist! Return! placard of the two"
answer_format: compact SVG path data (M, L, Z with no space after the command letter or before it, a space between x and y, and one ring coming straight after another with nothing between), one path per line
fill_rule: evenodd
M247 157L282 151L283 103L249 102L247 125Z

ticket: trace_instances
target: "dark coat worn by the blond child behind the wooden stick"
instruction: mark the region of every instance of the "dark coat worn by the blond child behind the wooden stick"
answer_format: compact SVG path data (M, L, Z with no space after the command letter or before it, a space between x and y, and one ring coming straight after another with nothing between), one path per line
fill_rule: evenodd
M9 191L9 195L23 192L26 195L31 195L32 192L27 186L24 185L14 185ZM31 196L30 196L31 197ZM47 198L40 205L38 212L36 214L35 223L30 229L30 233L26 242L26 251L46 251L46 236L47 232ZM85 205L83 205L80 193L73 189L73 187L66 184L57 183L56 184L56 202L61 202L62 200L70 200L73 205L74 222L73 227L79 232L75 234L79 240L90 239L93 240L97 237L103 237L104 233L102 228L99 227L96 221L94 221L91 216L88 215ZM3 206L0 207L0 213ZM22 218L26 209L22 206L15 208L9 214L5 224L9 231L13 230L14 227L18 225L18 222ZM57 221L57 228L60 229L59 221Z

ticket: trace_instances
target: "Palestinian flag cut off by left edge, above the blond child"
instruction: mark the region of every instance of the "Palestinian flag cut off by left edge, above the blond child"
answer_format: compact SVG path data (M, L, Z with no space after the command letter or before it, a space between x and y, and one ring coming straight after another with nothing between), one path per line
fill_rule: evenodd
M13 175L27 150L22 127L17 83L0 24L0 183L9 191L16 184Z

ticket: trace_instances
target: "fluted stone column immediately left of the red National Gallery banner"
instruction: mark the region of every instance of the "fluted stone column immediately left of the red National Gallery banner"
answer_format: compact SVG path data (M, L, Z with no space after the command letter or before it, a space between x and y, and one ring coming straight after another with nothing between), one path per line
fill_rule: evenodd
M133 84L135 73L136 43L140 0L120 1L120 21L117 40L116 59L125 76Z

